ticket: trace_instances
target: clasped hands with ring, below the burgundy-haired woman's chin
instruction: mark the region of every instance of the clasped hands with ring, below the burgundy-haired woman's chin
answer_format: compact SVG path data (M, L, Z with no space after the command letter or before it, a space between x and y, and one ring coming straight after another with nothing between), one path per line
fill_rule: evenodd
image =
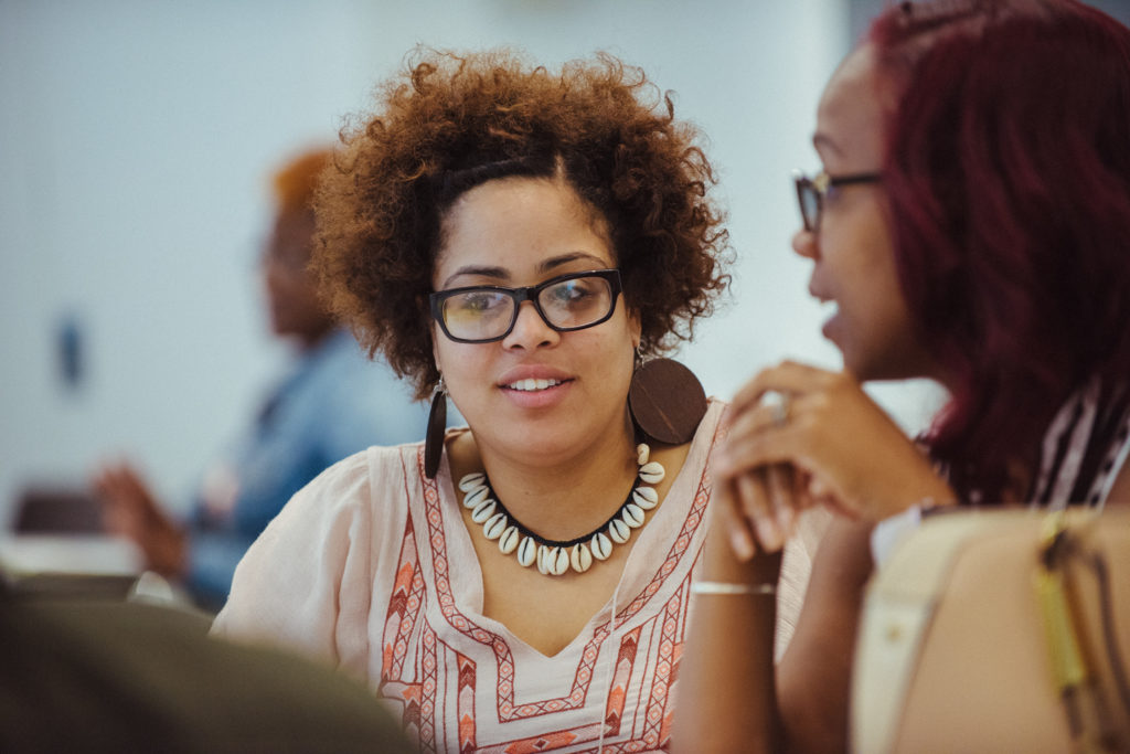
M766 393L783 404L763 401ZM734 397L729 433L712 459L715 491L739 557L754 537L779 549L797 514L826 505L878 521L910 505L954 500L929 459L845 372L784 362Z

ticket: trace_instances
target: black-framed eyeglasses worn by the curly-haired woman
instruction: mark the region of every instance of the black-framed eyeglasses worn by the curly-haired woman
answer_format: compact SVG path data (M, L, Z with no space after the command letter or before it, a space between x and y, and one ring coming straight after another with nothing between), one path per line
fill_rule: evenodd
M490 343L514 329L523 301L533 304L550 328L570 332L607 321L620 291L619 270L586 270L522 288L473 285L436 291L428 302L432 317L455 343Z

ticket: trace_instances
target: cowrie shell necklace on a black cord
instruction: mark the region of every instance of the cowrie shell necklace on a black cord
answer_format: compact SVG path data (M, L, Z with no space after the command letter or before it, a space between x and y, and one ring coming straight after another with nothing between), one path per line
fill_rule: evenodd
M646 443L636 447L640 473L627 500L610 519L575 539L547 539L530 531L506 510L481 471L464 476L459 480L459 488L463 493L463 508L471 511L471 520L483 527L487 539L498 543L503 555L514 554L521 565L537 565L545 575L559 577L570 569L584 573L592 567L593 558L607 560L614 544L626 543L633 529L643 526L646 512L659 504L659 493L649 485L662 482L667 471L662 463L650 460L650 456L651 448Z

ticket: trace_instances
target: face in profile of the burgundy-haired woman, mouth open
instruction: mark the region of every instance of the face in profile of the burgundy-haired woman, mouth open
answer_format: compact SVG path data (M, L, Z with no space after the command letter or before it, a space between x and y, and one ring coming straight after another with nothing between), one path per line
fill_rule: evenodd
M812 142L833 179L883 168L883 116L873 53L851 53L828 81ZM820 225L800 231L793 249L814 262L809 293L835 304L823 332L859 380L937 376L918 344L898 285L883 183L832 188Z

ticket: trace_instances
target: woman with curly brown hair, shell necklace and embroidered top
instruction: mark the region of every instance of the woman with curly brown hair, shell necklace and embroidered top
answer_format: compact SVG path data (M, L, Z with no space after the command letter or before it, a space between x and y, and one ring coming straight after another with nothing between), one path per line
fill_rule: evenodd
M664 748L722 405L646 357L728 283L711 167L611 57L417 54L344 136L315 263L428 437L299 493L216 630L367 678L424 749Z

